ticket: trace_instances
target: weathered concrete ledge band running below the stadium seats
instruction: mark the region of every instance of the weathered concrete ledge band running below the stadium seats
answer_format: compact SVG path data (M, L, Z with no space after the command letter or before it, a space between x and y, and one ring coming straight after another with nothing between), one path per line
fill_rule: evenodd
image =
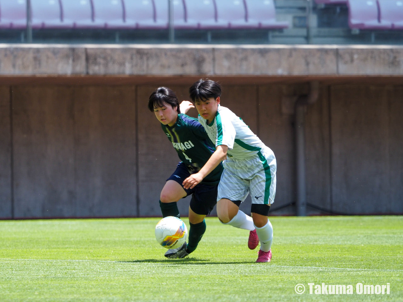
M403 75L403 46L0 44L0 75Z

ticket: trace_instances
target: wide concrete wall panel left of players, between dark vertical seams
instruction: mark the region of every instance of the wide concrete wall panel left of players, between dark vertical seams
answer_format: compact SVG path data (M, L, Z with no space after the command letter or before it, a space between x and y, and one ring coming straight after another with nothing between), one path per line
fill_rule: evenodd
M136 216L135 91L12 90L12 216Z

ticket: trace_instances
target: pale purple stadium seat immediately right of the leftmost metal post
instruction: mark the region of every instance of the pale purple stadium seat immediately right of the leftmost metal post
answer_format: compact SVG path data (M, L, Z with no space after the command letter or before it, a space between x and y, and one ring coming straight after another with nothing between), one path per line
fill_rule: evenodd
M31 0L31 26L34 29L62 26L58 0Z

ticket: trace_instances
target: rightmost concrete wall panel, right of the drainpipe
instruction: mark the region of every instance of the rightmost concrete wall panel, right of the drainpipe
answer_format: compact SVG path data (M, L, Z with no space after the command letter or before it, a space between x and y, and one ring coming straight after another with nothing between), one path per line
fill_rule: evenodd
M331 87L332 200L343 212L402 212L402 88Z

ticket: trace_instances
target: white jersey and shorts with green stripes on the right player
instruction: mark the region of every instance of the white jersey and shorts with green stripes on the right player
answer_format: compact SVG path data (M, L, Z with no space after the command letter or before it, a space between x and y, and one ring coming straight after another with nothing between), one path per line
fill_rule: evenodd
M277 170L273 151L228 108L218 105L210 125L201 116L199 122L216 147L228 146L227 159L222 162L224 172L218 184L217 201L222 198L244 201L249 193L252 203L273 203Z

